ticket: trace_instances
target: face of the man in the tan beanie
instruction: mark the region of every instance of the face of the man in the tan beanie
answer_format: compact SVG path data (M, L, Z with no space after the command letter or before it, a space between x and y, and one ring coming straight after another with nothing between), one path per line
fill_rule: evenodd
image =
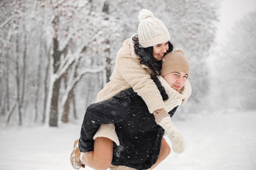
M163 76L165 81L171 85L173 89L180 92L181 88L184 86L188 75L184 72L177 71L173 73L166 74Z

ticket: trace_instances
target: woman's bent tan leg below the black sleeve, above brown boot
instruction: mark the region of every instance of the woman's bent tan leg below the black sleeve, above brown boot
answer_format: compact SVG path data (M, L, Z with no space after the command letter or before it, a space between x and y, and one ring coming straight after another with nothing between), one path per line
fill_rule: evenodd
M105 137L94 140L94 150L83 154L82 162L95 170L107 170L112 162L113 141Z

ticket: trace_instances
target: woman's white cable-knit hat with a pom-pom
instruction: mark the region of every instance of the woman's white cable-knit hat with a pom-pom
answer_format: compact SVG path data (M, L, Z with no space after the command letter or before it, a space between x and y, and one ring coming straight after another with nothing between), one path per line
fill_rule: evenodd
M171 39L166 26L151 11L142 9L138 18L138 39L141 47L154 46Z

